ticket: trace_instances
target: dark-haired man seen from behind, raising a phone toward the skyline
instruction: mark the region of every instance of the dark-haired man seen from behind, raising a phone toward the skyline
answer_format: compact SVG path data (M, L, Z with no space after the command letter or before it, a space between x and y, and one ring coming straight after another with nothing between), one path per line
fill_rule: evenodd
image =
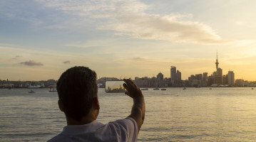
M51 141L137 141L145 118L145 102L140 88L124 80L126 94L133 99L126 119L101 124L96 121L100 105L96 72L88 67L71 67L57 82L58 107L66 115L67 126Z

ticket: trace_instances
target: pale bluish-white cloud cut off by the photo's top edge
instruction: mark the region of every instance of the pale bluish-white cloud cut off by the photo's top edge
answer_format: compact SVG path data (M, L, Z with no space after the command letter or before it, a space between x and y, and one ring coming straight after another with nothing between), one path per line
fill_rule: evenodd
M91 18L110 18L123 13L142 13L148 9L148 5L137 0L36 0L40 4L52 7L56 10L63 11L78 16L88 16ZM116 13L119 12L119 13Z

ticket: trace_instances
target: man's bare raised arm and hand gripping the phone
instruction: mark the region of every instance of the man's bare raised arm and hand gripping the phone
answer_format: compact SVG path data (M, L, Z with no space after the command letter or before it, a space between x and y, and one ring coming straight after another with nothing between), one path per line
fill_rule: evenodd
M128 117L133 118L138 125L138 132L140 131L140 127L143 124L143 121L145 119L145 102L143 94L140 90L140 88L134 84L131 80L123 80L124 83L123 87L126 88L128 92L126 94L133 98L133 108L131 109L131 113Z

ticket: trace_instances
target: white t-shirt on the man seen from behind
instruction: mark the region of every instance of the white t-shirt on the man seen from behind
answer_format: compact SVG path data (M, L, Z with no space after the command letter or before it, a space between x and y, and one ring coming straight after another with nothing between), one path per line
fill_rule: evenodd
M137 141L138 126L134 119L128 117L117 121L102 124L92 121L84 125L68 125L57 136L51 138L53 141Z

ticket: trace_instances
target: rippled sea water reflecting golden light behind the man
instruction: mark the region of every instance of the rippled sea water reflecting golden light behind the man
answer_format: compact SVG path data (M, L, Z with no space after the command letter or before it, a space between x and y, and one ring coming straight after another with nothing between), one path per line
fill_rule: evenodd
M0 89L0 141L47 141L66 126L48 89ZM256 141L256 89L149 89L138 141ZM133 100L98 90L98 121L123 119Z

